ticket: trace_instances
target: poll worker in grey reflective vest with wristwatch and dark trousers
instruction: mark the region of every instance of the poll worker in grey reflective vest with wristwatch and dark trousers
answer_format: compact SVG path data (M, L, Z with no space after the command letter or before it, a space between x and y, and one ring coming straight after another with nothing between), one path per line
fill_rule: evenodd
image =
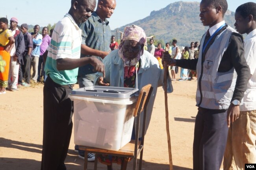
M239 104L250 77L243 50L243 37L223 17L226 0L202 0L200 20L209 29L201 39L198 59L171 59L169 65L197 70L193 169L219 170L226 147L228 127L239 116Z

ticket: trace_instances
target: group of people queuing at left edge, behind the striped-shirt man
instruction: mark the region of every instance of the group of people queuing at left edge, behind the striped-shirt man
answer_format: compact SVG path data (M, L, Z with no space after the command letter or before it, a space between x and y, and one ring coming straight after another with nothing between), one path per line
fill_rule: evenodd
M5 94L6 90L18 91L19 87L30 87L32 81L38 82L44 74L43 54L50 44L51 37L48 35L48 28L44 27L42 34L39 33L40 26L35 25L33 32L28 32L28 24L18 26L19 20L16 17L10 19L10 27L7 18L1 18L2 42L9 57L5 58L4 70L5 75L1 81L0 94ZM9 37L9 38L8 38ZM14 39L14 43L13 42ZM8 42L9 41L9 42ZM3 44L7 43L5 46ZM33 72L31 75L31 68Z

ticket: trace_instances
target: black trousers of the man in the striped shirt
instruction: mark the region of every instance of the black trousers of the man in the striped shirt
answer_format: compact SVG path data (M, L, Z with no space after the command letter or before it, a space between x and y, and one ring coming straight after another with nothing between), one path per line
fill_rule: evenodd
M44 122L41 170L66 170L64 161L72 133L73 104L70 88L48 76L43 90Z

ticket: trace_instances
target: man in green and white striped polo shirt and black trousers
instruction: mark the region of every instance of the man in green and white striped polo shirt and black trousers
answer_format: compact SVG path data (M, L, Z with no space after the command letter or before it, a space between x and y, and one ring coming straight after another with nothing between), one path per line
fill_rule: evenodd
M69 13L52 33L45 72L48 75L44 94L44 130L41 170L66 170L64 161L72 133L72 102L68 97L76 83L78 67L91 64L98 72L104 65L95 57L80 58L82 42L79 24L85 22L96 0L71 0Z

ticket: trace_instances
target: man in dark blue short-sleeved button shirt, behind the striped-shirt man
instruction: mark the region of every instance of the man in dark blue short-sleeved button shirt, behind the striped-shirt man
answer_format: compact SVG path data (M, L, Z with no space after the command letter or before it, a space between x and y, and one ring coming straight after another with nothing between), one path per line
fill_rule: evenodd
M111 30L109 21L116 7L115 0L99 0L96 11L83 24L80 25L82 30L81 57L96 57L100 61L111 51L109 48L111 39ZM95 79L96 71L91 64L80 67L78 70L79 87L92 86ZM78 146L75 146L78 151ZM79 151L79 157L84 159L84 152ZM88 161L94 161L95 155L89 153Z

